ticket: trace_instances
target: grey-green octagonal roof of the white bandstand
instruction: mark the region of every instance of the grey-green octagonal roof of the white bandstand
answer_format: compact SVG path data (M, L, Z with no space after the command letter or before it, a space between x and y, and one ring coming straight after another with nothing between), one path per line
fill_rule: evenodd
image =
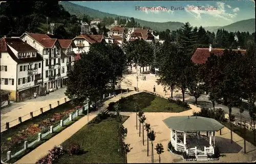
M163 122L171 129L180 131L218 131L224 127L215 119L197 116L174 116Z

